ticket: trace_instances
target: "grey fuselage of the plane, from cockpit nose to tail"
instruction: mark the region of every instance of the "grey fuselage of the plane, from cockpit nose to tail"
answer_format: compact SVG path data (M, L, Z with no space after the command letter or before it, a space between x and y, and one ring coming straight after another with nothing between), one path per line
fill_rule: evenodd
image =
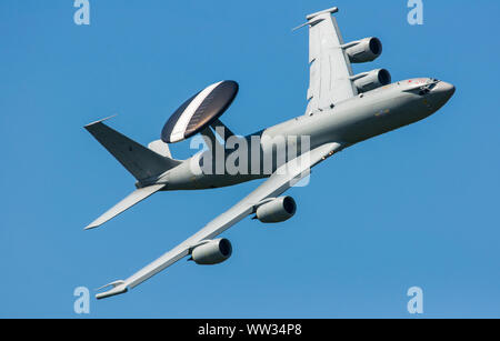
M247 171L239 173L226 170L222 173L197 171L193 164L200 164L200 159L207 154L206 151L184 160L154 182L166 183L164 190L194 190L233 185L267 178L286 160L291 159L289 154L283 158L277 157L276 138L287 141L286 153L289 151L289 143L299 144L291 148L294 157L306 150L301 150L300 143L297 143L298 140L290 139L290 137L308 137L310 144L308 150L329 142L338 142L347 148L431 116L444 106L453 93L453 86L434 79L412 79L392 83L339 102L328 110L320 110L310 116L300 116L258 133L240 138L248 142ZM260 142L252 143L252 137L258 137ZM234 151L226 149L222 152L223 158L228 159L232 152ZM260 156L257 160L259 164L252 167L251 163L256 162L256 159L252 159L250 154L256 152ZM266 158L273 161L270 168L263 169L262 164Z

